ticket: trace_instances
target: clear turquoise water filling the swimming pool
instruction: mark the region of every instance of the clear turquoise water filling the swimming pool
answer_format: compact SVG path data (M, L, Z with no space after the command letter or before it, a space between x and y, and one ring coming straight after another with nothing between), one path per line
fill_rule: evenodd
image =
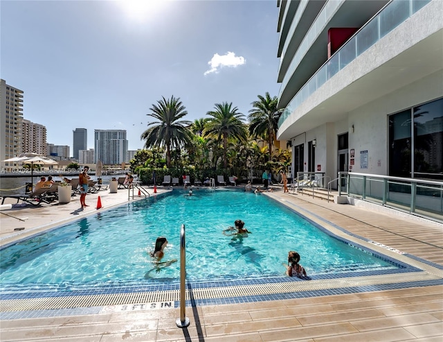
M128 203L64 225L1 250L0 285L6 287L155 283L179 280L179 264L155 271L150 252L168 238L162 261L180 259L186 225L188 280L226 280L284 275L296 250L308 275L397 268L329 237L263 194L195 189ZM243 239L222 231L242 219Z

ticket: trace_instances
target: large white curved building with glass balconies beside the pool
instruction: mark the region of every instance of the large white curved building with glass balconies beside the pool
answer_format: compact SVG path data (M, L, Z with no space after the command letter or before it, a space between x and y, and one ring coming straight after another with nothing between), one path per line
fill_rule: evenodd
M443 1L278 5L278 139L293 176L442 180Z

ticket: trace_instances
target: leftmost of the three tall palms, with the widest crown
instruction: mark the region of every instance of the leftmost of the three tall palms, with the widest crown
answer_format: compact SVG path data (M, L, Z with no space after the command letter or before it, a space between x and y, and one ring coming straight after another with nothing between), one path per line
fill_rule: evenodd
M149 128L142 133L141 139L145 139L145 148L153 146L166 147L166 164L171 166L171 148L180 147L190 141L189 130L186 126L191 124L190 121L181 120L188 112L180 101L180 98L157 101L152 105L152 113L146 114L158 121L147 124ZM150 127L151 126L151 127Z

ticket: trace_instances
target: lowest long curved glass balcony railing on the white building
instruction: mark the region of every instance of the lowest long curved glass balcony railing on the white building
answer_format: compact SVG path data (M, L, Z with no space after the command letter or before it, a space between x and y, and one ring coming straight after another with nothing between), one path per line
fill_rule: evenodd
M415 12L436 0L392 0L368 23L357 31L350 40L341 46L325 64L309 78L307 83L293 96L291 102L284 108L282 116L278 121L278 127L298 108L311 94L324 85L341 69L355 60L361 53L378 42L394 28L412 17ZM288 71L293 74L292 70ZM283 83L285 84L285 83Z

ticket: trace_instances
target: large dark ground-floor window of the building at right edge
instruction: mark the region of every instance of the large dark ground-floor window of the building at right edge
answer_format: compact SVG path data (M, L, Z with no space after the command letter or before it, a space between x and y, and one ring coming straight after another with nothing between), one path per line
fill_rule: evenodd
M442 180L443 99L390 115L389 151L390 176Z

